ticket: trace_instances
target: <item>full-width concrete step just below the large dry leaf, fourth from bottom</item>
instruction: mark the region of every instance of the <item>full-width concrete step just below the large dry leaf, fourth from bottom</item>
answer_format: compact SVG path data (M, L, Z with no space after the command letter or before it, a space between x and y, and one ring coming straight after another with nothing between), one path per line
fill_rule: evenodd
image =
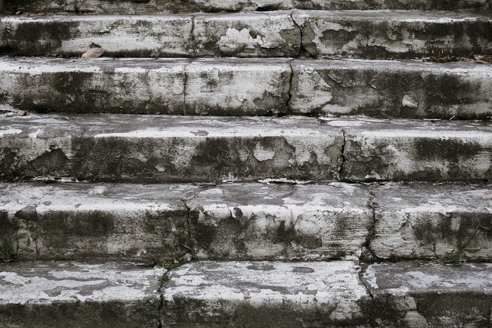
M1 58L24 111L486 119L492 65L399 60Z

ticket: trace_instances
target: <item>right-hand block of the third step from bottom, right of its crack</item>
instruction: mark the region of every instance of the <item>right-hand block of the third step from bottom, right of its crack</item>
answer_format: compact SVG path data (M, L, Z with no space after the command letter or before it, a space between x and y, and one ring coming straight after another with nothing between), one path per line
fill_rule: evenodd
M488 181L489 122L324 119L344 131L343 181Z

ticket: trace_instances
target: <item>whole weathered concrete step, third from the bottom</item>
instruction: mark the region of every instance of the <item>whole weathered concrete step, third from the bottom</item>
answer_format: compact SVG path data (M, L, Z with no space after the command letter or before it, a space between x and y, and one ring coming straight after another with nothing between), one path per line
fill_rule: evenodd
M5 181L491 178L489 121L4 114L0 126Z

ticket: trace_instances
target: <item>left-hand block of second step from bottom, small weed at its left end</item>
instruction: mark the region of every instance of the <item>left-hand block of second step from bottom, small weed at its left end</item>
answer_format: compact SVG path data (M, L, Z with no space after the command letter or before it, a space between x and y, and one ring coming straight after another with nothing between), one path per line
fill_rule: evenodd
M22 259L172 259L189 243L183 202L196 186L1 184L0 236L28 233ZM21 244L25 244L22 240Z

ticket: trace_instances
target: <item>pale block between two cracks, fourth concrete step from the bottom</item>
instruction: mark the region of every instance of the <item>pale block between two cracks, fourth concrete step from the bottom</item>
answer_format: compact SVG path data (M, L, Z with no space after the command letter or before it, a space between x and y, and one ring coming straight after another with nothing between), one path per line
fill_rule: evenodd
M186 66L186 114L285 113L290 77L288 60L194 60Z

